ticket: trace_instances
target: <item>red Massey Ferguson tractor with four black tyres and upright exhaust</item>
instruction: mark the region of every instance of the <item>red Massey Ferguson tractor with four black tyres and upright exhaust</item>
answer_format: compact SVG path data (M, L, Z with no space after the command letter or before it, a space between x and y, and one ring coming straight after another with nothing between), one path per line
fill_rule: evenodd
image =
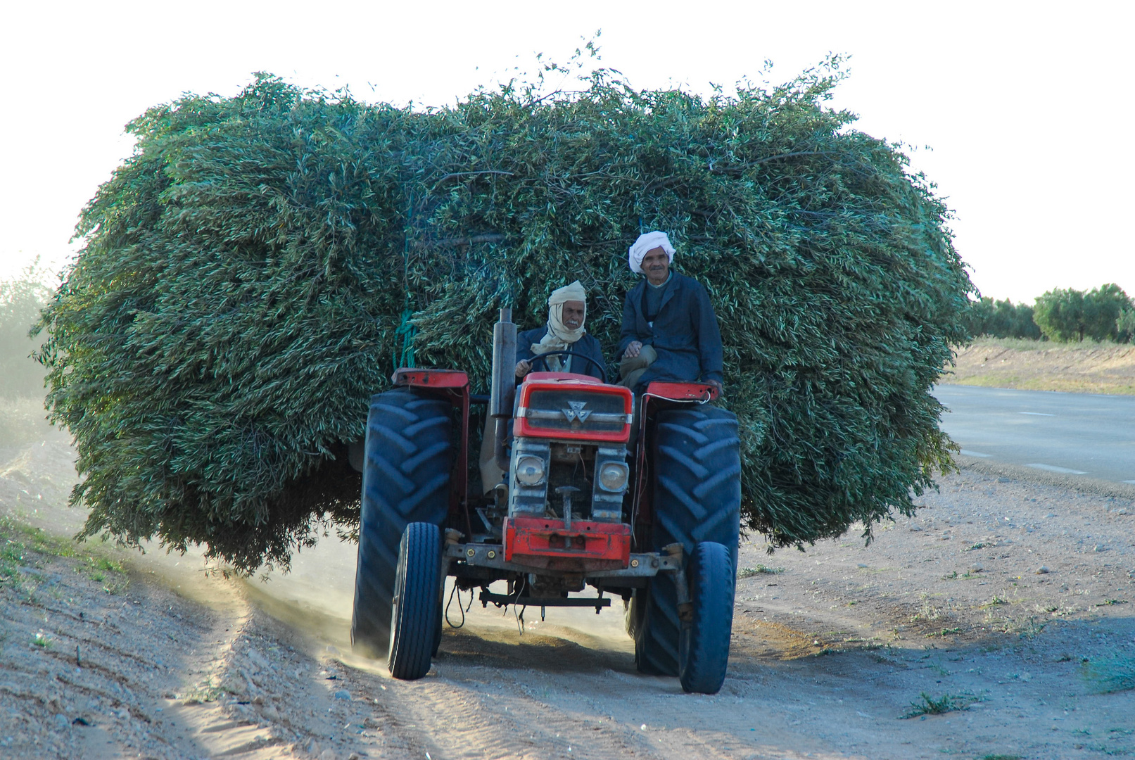
M651 382L636 398L589 375L536 371L552 354L518 388L511 320L502 309L488 397L470 395L461 371L401 369L395 388L371 398L354 647L385 652L396 678L424 676L449 575L479 588L485 606L598 613L620 597L638 669L716 693L733 623L737 417L709 405L708 385ZM472 404L488 404L505 473L484 496L469 492ZM506 593L489 590L495 581ZM587 586L594 597L569 596Z

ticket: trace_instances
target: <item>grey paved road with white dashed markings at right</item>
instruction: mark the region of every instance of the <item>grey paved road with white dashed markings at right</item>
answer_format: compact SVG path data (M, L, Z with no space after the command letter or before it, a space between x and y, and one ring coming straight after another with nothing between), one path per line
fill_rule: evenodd
M1135 483L1135 396L938 386L942 429L969 456Z

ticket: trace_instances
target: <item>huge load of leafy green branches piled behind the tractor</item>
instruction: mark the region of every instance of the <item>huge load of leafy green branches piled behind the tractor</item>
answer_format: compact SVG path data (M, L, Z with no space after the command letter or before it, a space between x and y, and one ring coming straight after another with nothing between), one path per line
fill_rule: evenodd
M428 110L260 76L128 125L44 312L85 531L251 571L358 521L346 445L392 370L485 391L491 323L579 279L614 368L627 247L709 292L743 522L802 546L914 509L948 467L931 395L973 287L899 146L827 105L838 67L709 98L508 84Z

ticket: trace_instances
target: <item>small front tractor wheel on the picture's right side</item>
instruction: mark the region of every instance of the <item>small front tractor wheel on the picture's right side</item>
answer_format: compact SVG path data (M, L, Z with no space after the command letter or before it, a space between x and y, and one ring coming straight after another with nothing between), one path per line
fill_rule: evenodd
M692 614L682 620L678 643L678 677L682 689L716 694L725 681L729 639L733 631L733 563L720 543L699 543L690 557Z

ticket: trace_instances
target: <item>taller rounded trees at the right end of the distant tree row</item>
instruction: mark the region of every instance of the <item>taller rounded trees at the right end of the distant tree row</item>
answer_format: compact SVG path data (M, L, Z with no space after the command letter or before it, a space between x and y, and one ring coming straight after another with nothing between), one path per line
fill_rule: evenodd
M1049 290L1036 299L1033 319L1050 340L1117 340L1132 299L1111 282L1087 293L1073 288Z

